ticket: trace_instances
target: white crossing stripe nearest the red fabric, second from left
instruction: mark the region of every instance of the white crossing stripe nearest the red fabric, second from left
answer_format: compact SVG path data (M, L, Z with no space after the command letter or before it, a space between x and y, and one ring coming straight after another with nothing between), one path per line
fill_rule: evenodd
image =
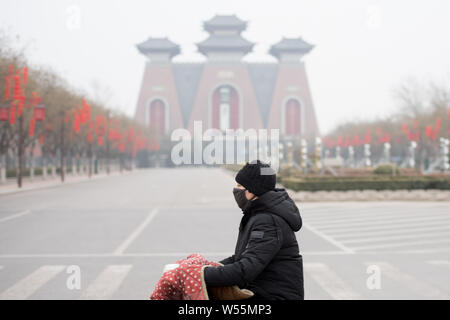
M110 299L117 289L119 289L132 267L132 265L113 265L106 267L97 279L81 294L80 299Z

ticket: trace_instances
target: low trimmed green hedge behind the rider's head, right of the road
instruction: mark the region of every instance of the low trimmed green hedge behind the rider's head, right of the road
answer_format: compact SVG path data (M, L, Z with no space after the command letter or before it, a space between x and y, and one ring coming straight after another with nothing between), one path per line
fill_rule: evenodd
M450 178L397 177L397 178L281 178L285 188L295 191L347 191L347 190L450 190Z

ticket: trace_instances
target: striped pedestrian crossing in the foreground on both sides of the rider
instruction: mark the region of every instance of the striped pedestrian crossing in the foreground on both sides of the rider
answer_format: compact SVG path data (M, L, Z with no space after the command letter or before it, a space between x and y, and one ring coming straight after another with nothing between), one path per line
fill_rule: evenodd
M418 262L416 262L418 263ZM382 288L374 296L366 281L368 266L377 266L380 270ZM47 299L45 294L51 283L58 282L59 292L56 294L64 296L67 278L69 277L67 265L43 265L36 266L36 269L16 281L9 287L2 287L2 274L14 266L0 265L0 300L24 300ZM352 270L347 267L339 268L339 265L324 261L308 261L304 263L305 296L307 299L333 299L333 300L355 300L355 299L450 299L450 281L442 279L441 283L436 283L432 278L427 277L436 271L446 273L450 267L450 260L426 260L419 263L418 268L411 272L405 270L405 266L396 266L388 261L360 261L352 263ZM134 265L114 264L106 265L99 273L95 274L91 280L83 281L86 287L82 287L71 296L70 299L82 300L108 300L120 299L121 291L133 291L132 281ZM138 275L142 277L142 275ZM148 299L160 273L154 273L147 278L142 277L146 282L146 292L142 296L133 297L136 299ZM150 279L151 278L151 279ZM12 279L10 279L12 280ZM311 288L318 287L320 292ZM395 292L391 292L395 288ZM384 291L383 291L384 290ZM55 299L55 293L50 297ZM56 298L59 299L59 298Z

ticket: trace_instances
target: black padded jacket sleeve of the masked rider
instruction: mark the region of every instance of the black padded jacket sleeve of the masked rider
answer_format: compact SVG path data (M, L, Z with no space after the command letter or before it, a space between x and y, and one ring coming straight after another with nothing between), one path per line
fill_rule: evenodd
M261 217L250 231L247 248L239 260L223 267L207 267L205 282L209 286L245 287L270 263L281 248L281 232L272 217Z

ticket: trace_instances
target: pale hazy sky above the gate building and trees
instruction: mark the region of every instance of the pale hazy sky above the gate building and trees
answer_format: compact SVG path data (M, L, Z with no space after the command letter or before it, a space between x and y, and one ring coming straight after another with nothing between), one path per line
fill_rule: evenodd
M215 14L248 21L243 36L256 46L246 61L274 61L267 50L283 36L316 45L304 60L322 133L389 114L410 77L450 79L448 0L0 0L0 29L20 36L33 64L92 94L103 88L131 116L146 60L135 45L167 36L181 45L174 61L203 61L195 43Z

